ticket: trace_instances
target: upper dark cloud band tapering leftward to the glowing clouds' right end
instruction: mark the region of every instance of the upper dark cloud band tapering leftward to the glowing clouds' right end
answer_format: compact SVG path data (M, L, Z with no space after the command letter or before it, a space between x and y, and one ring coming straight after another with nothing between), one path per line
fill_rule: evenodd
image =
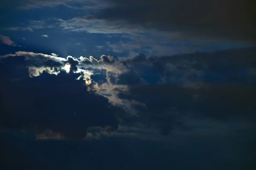
M256 69L255 54L256 48L148 58L141 54L121 63L148 82L152 79L157 80L158 77L158 82L176 84L187 82L255 84L253 73Z

